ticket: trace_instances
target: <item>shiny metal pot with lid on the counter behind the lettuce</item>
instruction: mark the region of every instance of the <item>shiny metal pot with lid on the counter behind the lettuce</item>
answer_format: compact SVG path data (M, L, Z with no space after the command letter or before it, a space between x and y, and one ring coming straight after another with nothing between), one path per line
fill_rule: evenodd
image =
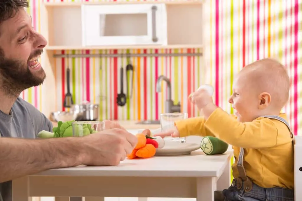
M84 101L82 104L74 104L71 110L77 113L76 121L97 121L98 120L98 104L92 104Z

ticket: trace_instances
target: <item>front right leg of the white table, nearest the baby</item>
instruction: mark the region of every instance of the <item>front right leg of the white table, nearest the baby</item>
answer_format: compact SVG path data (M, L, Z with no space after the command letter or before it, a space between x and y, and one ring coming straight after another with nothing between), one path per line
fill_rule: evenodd
M214 191L216 190L216 177L197 178L196 201L214 201Z

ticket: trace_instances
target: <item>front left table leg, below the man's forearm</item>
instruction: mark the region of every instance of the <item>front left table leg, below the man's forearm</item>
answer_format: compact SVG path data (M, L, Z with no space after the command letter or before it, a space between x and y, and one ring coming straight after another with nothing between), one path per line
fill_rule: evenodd
M31 201L28 196L28 177L20 177L12 181L12 201Z

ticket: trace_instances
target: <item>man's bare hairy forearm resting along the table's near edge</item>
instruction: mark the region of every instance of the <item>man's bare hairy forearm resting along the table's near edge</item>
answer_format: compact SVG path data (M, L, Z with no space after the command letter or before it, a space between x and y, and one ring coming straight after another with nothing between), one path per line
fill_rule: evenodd
M78 140L0 137L0 183L51 168L81 165Z

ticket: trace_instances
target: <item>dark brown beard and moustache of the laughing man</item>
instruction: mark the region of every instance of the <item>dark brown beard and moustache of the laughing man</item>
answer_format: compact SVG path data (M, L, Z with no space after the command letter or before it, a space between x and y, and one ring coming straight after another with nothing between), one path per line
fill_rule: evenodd
M40 55L42 50L37 50L29 58ZM4 58L0 49L0 87L8 96L18 97L19 94L32 86L38 86L45 79L43 68L36 72L42 76L34 75L27 67L27 62L18 59Z

